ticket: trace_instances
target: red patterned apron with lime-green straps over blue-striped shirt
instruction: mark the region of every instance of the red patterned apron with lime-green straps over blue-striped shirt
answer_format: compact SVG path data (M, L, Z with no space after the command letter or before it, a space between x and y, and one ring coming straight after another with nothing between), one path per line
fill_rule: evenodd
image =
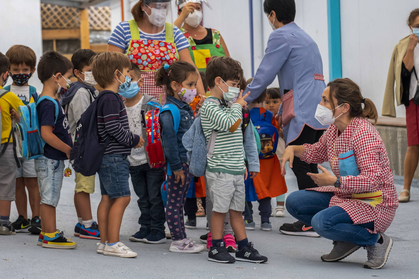
M128 20L131 40L127 49L130 61L138 65L144 84L141 92L155 97L160 102L166 101L165 87L155 86L154 74L162 64L171 65L179 59L179 54L174 42L173 24L166 23L166 41L142 40L137 22Z

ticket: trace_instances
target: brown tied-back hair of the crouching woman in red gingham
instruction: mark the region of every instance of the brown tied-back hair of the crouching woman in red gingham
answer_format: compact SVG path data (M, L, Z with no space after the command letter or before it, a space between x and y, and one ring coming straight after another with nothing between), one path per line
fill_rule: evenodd
M362 117L374 120L377 123L378 113L374 103L367 98L362 97L361 89L351 79L335 79L327 84L330 89L329 101L332 102L332 97L337 101L337 105L344 103L349 104L349 115L352 117ZM362 102L364 108L362 108ZM333 113L335 113L334 105L332 105Z

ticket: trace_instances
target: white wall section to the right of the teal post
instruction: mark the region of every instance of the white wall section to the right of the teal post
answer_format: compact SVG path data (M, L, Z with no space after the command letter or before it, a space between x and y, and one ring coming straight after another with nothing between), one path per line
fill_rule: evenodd
M406 20L419 8L411 0L341 0L342 76L357 82L381 114L391 53L411 31ZM405 117L403 105L396 108Z

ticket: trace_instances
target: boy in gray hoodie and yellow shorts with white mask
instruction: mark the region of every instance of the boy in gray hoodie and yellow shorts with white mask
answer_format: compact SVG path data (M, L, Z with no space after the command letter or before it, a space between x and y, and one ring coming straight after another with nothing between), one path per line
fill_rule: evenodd
M71 57L73 64L73 75L77 81L70 85L61 96L61 105L67 115L70 125L71 138L74 141L77 122L82 113L93 102L99 94L95 89L96 81L93 78L90 59L97 55L91 49L78 49ZM74 228L74 235L80 238L100 239L99 227L92 217L90 206L90 194L95 192L95 176L85 177L75 172L76 183L74 188L74 206L77 213L78 222Z

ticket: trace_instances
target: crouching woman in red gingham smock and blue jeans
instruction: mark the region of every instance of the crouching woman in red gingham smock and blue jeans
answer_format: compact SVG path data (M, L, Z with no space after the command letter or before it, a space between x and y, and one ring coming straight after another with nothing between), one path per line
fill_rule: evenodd
M364 106L364 108L362 108ZM384 234L393 221L398 199L383 141L366 119L377 121L377 110L350 79L335 79L323 91L316 119L330 125L317 143L288 146L281 159L294 156L307 163L330 163L333 173L318 166L310 174L319 186L292 192L288 212L333 240L323 261L339 261L361 246L367 250L365 268L379 269L387 260L393 240Z

